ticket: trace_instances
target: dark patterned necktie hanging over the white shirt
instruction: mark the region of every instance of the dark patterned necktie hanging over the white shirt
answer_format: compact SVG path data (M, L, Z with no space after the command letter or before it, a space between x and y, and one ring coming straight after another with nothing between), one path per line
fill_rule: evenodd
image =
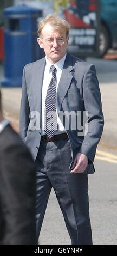
M56 68L51 66L52 78L47 90L45 103L45 133L49 138L57 131L56 115Z

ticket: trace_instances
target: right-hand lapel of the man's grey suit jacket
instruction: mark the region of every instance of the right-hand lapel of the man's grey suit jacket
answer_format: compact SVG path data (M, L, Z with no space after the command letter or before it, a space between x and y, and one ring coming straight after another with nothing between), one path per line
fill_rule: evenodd
M62 75L61 75L61 79L59 82L59 87L57 89L57 95L56 95L56 106L57 106L58 113L61 109L62 101L70 86L70 82L72 81L72 78L73 78L73 75L71 72L72 70L73 70L72 56L69 53L67 53L67 57L64 62Z

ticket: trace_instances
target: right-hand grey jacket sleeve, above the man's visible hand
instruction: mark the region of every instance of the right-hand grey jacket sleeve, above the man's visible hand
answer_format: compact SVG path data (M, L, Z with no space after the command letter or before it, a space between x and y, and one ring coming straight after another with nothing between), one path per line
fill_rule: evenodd
M81 153L93 162L104 124L99 82L94 65L88 67L83 78L83 101L85 110L88 112L88 123L87 135L83 140Z

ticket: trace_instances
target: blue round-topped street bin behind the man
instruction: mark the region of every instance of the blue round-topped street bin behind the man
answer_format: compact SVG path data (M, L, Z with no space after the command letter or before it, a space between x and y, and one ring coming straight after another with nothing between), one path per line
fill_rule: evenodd
M21 87L25 64L43 57L43 51L37 44L37 18L42 10L18 5L4 9L4 79L3 87Z

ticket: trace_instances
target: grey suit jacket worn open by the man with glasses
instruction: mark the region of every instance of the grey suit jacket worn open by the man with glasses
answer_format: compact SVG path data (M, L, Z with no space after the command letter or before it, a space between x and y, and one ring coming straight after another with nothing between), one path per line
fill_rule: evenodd
M24 142L36 159L40 146L41 129L32 130L30 112L38 111L41 116L42 83L45 58L30 63L24 67L22 83L22 101L19 127ZM103 113L99 82L96 77L95 66L67 53L63 71L56 95L57 113L88 112L88 132L86 136L79 136L77 127L72 129L70 121L66 131L72 148L72 163L77 153L88 157L88 167L84 173L94 173L93 161L96 147L103 130ZM34 118L34 117L33 117ZM61 119L62 123L63 120ZM64 123L63 123L64 125Z

